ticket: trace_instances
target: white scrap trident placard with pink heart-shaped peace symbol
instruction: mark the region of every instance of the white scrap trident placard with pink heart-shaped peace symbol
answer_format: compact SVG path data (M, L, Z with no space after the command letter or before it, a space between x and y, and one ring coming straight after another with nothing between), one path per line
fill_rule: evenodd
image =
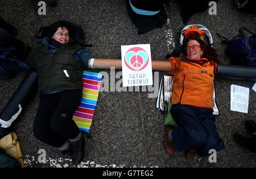
M153 85L150 44L122 45L123 86Z

